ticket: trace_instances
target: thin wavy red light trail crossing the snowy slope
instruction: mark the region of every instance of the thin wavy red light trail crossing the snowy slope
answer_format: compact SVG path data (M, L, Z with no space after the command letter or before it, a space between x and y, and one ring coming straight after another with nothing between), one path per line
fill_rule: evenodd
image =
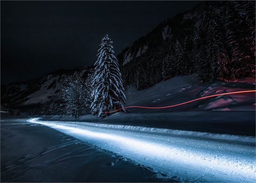
M113 111L110 111L110 112L103 112L103 113L117 112L117 111L125 109L125 108L147 108L147 109L171 108L171 107L181 106L181 105L184 105L184 104L187 104L187 103L190 103L190 102L194 102L194 101L197 101L197 100L202 100L202 99L205 99L205 98L211 98L211 97L216 97L216 96L221 96L221 95L248 93L248 92L256 92L256 90L247 90L247 91L240 91L240 92L229 92L229 93L225 93L225 94L216 94L216 95L201 97L201 98L197 98L197 99L194 99L194 100L189 100L187 102L183 102L183 103L180 103L180 104L175 104L175 105L172 105L172 106L164 106L164 107L127 106L127 107L123 107L123 108L120 108L120 109L117 109L117 110L113 110Z

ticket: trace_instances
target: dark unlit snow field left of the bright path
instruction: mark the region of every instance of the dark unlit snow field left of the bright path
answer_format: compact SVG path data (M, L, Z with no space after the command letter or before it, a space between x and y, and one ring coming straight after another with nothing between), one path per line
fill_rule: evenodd
M165 181L122 156L27 119L1 113L1 182Z

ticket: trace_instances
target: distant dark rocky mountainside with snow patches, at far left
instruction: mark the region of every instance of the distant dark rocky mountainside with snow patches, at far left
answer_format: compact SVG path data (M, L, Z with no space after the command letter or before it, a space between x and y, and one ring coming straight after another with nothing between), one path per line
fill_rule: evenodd
M73 73L79 73L85 79L88 72L88 67L58 70L30 81L2 85L1 105L26 106L59 100L62 94L62 84L67 77Z

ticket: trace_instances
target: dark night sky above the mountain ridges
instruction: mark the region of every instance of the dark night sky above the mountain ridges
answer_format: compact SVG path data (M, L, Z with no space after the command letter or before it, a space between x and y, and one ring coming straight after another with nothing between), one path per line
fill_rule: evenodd
M94 64L108 33L116 55L198 1L1 1L1 84Z

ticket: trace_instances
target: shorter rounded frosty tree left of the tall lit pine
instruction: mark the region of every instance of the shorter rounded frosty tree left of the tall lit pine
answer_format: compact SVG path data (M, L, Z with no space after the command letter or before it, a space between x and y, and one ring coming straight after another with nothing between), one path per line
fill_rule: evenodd
M86 109L87 90L83 79L77 73L65 81L62 88L62 100L65 102L64 111L75 118L78 118L82 110Z

